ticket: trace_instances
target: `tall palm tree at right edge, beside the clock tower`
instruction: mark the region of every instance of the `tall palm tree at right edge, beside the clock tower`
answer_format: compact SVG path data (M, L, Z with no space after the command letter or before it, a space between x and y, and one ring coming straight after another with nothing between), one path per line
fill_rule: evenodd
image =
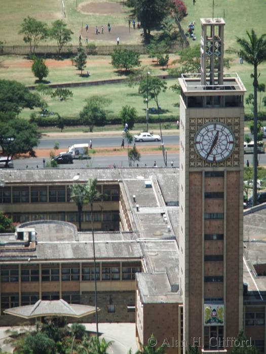
M229 52L237 53L248 64L253 65L253 87L254 87L254 152L253 152L253 206L257 204L257 90L258 77L257 68L259 64L266 61L266 34L259 38L252 29L251 33L247 31L248 38L237 37L237 43L241 49L239 51L230 49Z

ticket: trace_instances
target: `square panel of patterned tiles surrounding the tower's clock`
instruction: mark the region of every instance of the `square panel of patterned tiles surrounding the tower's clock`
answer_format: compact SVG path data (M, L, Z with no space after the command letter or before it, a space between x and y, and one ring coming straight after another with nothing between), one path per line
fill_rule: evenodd
M233 154L221 162L204 161L195 151L194 137L198 129L206 123L220 122L226 124L233 130L235 135L235 149ZM234 118L190 118L189 124L189 166L190 167L238 167L239 166L239 135L240 135L240 117Z

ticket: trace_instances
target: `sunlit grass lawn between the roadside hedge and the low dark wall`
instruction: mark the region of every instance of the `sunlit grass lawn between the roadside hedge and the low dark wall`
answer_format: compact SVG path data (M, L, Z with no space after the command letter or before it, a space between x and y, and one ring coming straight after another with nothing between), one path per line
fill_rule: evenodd
M178 116L179 107L175 104L178 101L178 95L169 87L175 83L175 80L167 80L168 89L159 96L160 107L164 110L163 116ZM65 102L60 102L52 98L48 98L49 111L58 112L62 116L78 116L86 98L96 95L110 99L112 102L106 108L109 116L117 117L122 106L129 105L135 107L139 116L146 116L146 104L143 98L138 95L138 86L129 87L127 84L111 84L97 85L88 87L77 87L71 89L73 97ZM156 107L154 101L149 102L149 108ZM29 118L30 110L24 110L21 117ZM150 114L151 115L151 114Z

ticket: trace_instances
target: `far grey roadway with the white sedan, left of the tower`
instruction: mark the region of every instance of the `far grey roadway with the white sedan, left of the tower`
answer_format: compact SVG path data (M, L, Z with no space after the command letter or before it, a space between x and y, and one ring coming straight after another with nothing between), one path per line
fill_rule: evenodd
M84 138L42 138L40 140L40 144L38 149L52 149L55 145L55 142L59 143L59 150L61 151L62 148L68 148L73 144L82 144L82 143L89 143L91 137ZM166 145L177 145L179 144L179 135L166 135L163 136L164 144ZM92 138L92 147L112 147L112 146L120 146L122 142L122 136L118 137L97 137ZM125 142L126 144L126 142ZM145 143L136 143L139 146L146 146L146 145L161 145L161 142L145 142Z

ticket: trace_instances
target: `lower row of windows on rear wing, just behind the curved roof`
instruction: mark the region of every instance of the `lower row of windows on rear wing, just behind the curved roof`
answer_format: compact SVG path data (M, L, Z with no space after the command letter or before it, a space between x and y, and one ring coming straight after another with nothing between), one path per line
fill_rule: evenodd
M60 220L67 221L69 223L79 222L79 213L77 212L41 212L41 213L13 213L10 215L13 223L26 223L28 221L36 220ZM91 222L91 212L85 211L81 214L81 221ZM93 212L94 222L119 222L119 211L103 211Z

